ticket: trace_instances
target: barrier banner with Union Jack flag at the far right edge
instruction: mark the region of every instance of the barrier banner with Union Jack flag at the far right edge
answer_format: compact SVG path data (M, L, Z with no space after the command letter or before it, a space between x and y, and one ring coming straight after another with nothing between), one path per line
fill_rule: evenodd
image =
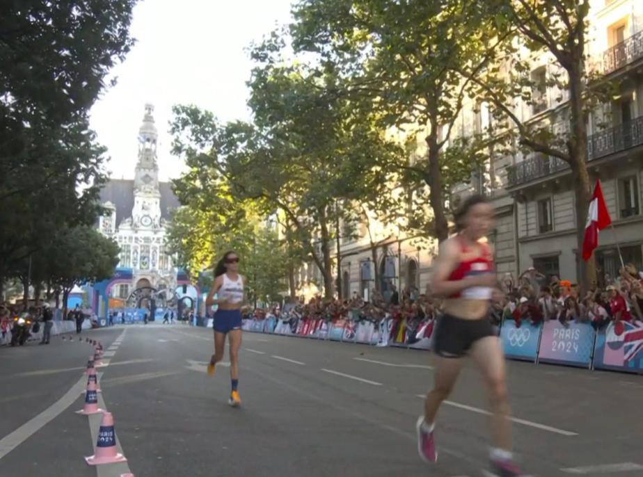
M643 374L643 323L621 323L622 330L610 323L596 335L594 368Z

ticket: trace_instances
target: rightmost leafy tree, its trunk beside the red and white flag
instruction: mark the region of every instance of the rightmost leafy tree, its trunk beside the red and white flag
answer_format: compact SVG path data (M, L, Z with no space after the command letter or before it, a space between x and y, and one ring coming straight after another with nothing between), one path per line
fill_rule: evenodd
M608 81L598 81L601 72L587 67L590 3L589 0L491 2L498 28L514 30L518 38L506 42L504 54L496 62L498 67L471 78L479 87L479 94L493 102L497 115L511 123L508 128L511 134L507 137L516 133L523 149L569 164L574 184L578 250L582 250L585 232L582 219L587 216L592 196L587 168L589 114L598 104L608 100L612 90ZM529 54L521 54L519 47L526 47ZM544 85L536 84L531 77L530 59L537 53L551 58L551 74ZM535 104L542 96L543 88L557 90L557 102L566 104L539 122L523 122L514 108L516 99ZM567 127L555 131L553 124L557 122L566 122ZM594 257L587 262L578 260L578 264L580 282L589 286L596 279Z

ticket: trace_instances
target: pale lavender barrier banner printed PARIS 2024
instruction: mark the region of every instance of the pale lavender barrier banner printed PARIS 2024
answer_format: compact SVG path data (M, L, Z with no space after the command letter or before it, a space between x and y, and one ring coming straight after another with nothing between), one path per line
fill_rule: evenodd
M543 325L538 360L543 363L569 364L589 368L594 351L596 332L589 323L570 322L564 326L557 320Z

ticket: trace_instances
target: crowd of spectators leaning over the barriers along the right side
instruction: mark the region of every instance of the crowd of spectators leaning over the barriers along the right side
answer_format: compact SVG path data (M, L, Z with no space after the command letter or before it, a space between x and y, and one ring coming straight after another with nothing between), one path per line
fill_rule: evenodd
M626 264L617 277L602 274L600 270L599 275L598 283L582 290L578 284L560 280L556 275L546 277L535 268L528 268L517 279L507 273L500 280L489 319L494 325L513 320L516 327L525 322L557 320L568 325L574 321L590 323L597 330L610 321L643 321L643 273L633 264ZM406 288L399 294L393 286L388 288L387 296L376 290L369 296L368 302L357 293L347 300L316 296L305 302L300 298L287 302L283 309L274 304L254 313L257 318L272 315L281 319L351 319L374 323L392 318L406 320L406 326L412 329L413 323L438 318L442 310L443 300L432 296L428 286L425 293Z

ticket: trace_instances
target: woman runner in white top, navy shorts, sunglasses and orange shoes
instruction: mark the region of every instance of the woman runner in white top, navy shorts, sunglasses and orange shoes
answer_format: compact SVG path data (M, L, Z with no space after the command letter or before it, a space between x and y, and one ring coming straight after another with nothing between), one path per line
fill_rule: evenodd
M214 268L214 283L205 299L206 306L219 305L214 313L214 355L210 358L207 373L214 375L216 363L223 359L225 335L230 342L230 380L232 391L228 404L241 405L239 398L239 348L241 347L241 304L244 302L244 277L239 275L239 257L226 252ZM214 295L219 297L214 299Z

